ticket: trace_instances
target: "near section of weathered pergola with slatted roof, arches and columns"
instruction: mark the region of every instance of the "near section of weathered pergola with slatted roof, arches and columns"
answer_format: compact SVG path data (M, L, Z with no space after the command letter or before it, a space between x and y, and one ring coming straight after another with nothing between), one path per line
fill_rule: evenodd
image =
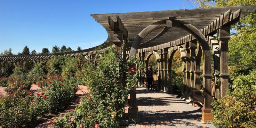
M107 31L108 39L116 51L129 58L138 54L148 64L151 54L157 54L160 88L172 92L171 67L175 51L181 53L184 72L184 98L192 100L192 90L200 89L200 63L203 55L204 100L202 120L212 121L212 98L220 98L228 92L228 40L230 26L240 18L255 12L256 5L183 9L153 12L92 14ZM217 34L217 38L215 35ZM198 45L197 45L198 42ZM125 43L124 49L121 44ZM184 46L183 46L184 45ZM183 47L182 47L183 46ZM169 54L169 56L168 56ZM145 56L147 58L145 59ZM212 73L212 60L214 71ZM143 83L140 71L140 85ZM214 88L212 88L214 77ZM216 86L215 86L216 85ZM213 95L212 95L213 93ZM213 96L213 97L212 97ZM130 93L129 117L138 120L136 87Z

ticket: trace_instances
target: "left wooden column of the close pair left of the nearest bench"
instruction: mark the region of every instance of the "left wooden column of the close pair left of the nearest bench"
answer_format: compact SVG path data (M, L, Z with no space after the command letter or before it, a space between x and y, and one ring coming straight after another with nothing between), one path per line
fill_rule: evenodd
M185 44L185 51L186 51L186 88L185 88L185 98L189 99L189 92L190 92L190 49L189 49L189 42Z

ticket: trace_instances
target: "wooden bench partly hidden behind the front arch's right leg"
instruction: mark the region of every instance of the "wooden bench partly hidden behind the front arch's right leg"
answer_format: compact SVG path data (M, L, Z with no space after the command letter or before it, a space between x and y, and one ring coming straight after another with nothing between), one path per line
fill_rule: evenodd
M202 106L204 106L204 96L202 95L196 95L195 92L204 92L204 90L192 90L193 92L193 106L195 107L195 102L198 102ZM215 93L215 85L212 83L212 102L214 99L214 93Z

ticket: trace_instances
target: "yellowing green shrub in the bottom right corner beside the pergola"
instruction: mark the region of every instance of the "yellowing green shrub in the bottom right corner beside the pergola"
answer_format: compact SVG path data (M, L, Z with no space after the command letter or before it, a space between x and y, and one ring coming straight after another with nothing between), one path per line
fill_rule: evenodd
M221 128L252 128L256 126L256 70L238 76L233 92L212 103L213 123Z

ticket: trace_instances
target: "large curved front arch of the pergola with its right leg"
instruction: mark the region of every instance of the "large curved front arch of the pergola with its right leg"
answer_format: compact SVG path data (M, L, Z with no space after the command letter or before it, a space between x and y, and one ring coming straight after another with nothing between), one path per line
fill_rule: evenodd
M202 47L203 53L204 53L204 108L211 108L211 79L212 79L212 60L211 60L211 51L208 44L208 41L204 37L201 31L199 31L195 26L180 20L160 20L157 21L146 28L144 28L135 38L131 50L130 50L130 56L135 56L139 47L140 42L145 38L149 33L152 31L158 29L158 28L171 28L171 27L177 27L181 28L183 30L188 31L192 36L196 38L196 40L199 42L199 44Z

